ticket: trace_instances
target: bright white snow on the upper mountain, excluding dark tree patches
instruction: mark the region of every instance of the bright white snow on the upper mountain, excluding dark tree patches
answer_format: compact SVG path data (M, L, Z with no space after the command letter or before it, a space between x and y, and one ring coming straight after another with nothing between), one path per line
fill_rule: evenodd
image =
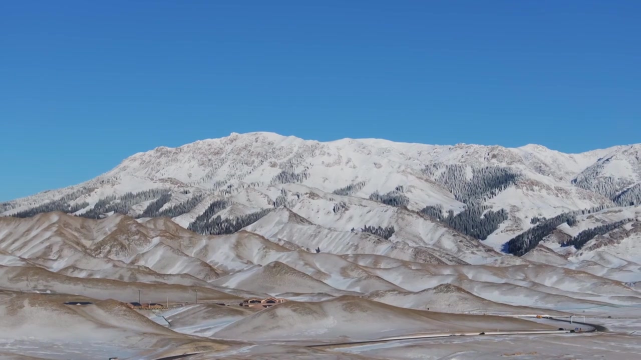
M510 213L510 218L487 240L488 245L499 249L505 241L529 229L532 217L549 218L570 210L612 206L604 194L585 190L585 186L574 186L571 181L590 167L597 167L604 169L606 175L601 177L615 176L625 179L628 185L638 183L640 147L629 145L563 154L540 145L510 149L395 143L380 139L316 142L274 133L233 133L174 149L158 147L135 154L87 183L0 204L0 214L11 215L67 195L71 198L65 201L70 204L87 202L88 206L77 212L82 215L99 200L110 196L117 198L127 192L165 188L172 194L169 202L162 205L165 210L192 198L201 199L186 213L175 216L178 224L187 227L214 199L226 198L233 202L221 211L222 218L271 208L281 195L279 184L292 182L325 193L353 186L345 191L351 197L365 199L374 192L385 194L401 186L408 200L406 206L412 211L442 206L444 211L451 209L458 213L465 204L456 200L437 175L425 172L426 165L460 165L469 174L473 168L490 166L510 168L520 174L515 186L486 201L495 210L506 209ZM615 160L626 165L615 166ZM140 215L144 205L150 203L151 200L146 199L131 204L129 215ZM325 205L299 202L296 213L308 218L322 211ZM309 220L314 222L313 217Z

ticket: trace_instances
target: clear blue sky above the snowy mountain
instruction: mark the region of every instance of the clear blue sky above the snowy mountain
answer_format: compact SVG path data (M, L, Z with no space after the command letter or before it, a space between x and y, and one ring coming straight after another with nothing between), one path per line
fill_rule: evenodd
M231 132L641 142L641 1L2 1L0 200Z

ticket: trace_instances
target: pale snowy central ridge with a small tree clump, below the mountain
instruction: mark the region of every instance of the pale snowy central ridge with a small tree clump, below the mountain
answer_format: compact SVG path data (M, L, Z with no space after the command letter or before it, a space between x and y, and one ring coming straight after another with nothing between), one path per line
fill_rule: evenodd
M290 243L308 251L318 247L321 251L329 251L339 255L378 254L408 261L437 264L464 263L465 261L483 263L490 256L498 255L478 241L460 236L460 234L425 220L419 215L404 213L403 210L397 208L381 209L380 213L367 208L351 208L369 212L367 215L378 218L378 224L393 225L395 229L399 229L397 233L400 235L397 237L394 235L390 240L364 232L361 227L344 229L356 224L347 222L342 225L341 218L363 218L359 217L358 213L356 215L350 214L351 209L339 215L328 211L328 213L322 213L315 218L324 224L333 225L334 229L305 220L294 213L296 209L298 208L294 210L277 209L258 222L249 225L246 229L261 234L271 241L281 243L281 245ZM386 217L388 220L384 220ZM364 218L365 224L362 224L362 227L367 225L367 216ZM340 231L335 230L337 228ZM430 240L433 242L426 243ZM454 242L457 240L458 243ZM428 247L428 245L431 246Z

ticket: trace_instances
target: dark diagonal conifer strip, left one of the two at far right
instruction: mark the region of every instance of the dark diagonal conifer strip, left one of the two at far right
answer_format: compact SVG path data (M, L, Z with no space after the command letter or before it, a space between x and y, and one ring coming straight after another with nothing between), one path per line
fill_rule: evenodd
M545 236L551 234L556 227L563 223L567 223L570 226L576 224L576 213L562 213L540 222L535 227L506 242L503 245L503 251L516 256L523 256L529 250L534 249Z

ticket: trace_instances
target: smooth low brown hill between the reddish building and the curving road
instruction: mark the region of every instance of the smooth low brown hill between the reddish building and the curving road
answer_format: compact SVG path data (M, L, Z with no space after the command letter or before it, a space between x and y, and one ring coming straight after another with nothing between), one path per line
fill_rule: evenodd
M442 314L404 309L344 296L322 302L285 302L215 333L218 338L253 340L365 340L399 334L487 329L551 329L501 316Z

